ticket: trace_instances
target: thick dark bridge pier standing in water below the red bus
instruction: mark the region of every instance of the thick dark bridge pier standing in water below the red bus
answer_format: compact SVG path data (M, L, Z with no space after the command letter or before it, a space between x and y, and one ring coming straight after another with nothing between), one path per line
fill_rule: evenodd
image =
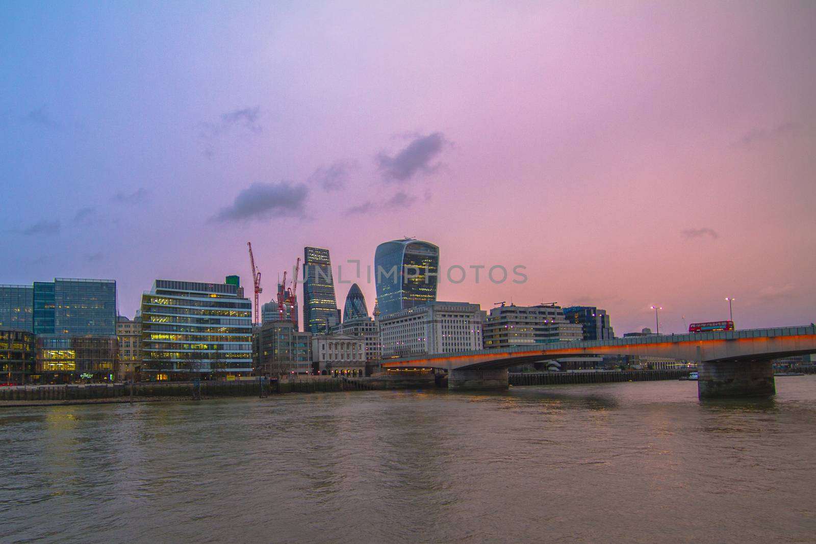
M697 396L771 396L776 394L774 368L769 360L699 364Z

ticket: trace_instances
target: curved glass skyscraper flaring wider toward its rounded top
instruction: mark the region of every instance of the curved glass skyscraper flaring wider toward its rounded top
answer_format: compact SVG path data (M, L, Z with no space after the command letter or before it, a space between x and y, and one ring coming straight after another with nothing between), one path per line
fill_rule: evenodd
M401 312L437 299L439 248L414 238L387 241L374 255L379 309Z

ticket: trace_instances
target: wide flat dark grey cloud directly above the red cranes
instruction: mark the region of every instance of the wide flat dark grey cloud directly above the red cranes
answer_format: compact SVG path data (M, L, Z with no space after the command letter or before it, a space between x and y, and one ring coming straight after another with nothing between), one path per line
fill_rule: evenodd
M273 215L305 214L304 204L308 196L306 184L282 181L277 184L251 184L235 197L232 206L221 208L211 221L246 221L268 219Z

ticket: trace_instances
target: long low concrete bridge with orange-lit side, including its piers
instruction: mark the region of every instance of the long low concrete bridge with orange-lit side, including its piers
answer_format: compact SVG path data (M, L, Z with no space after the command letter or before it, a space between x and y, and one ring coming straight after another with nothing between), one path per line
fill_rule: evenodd
M469 352L389 359L384 369L448 371L450 389L508 387L508 367L574 356L652 356L694 360L698 396L774 395L771 360L816 353L816 326L743 329L716 333L654 334L611 340L530 343Z

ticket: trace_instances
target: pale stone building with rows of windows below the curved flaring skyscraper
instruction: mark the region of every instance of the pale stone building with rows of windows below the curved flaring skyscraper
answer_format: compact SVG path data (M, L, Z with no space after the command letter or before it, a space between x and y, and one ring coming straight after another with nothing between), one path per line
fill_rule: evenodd
M383 357L481 349L486 312L478 304L432 301L379 316Z

